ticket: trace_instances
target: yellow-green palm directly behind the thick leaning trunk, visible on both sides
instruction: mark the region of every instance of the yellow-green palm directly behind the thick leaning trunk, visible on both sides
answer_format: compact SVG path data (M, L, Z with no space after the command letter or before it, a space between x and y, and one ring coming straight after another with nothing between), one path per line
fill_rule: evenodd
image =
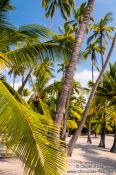
M55 81L53 84L48 85L44 90L44 94L47 97L47 99L46 98L44 99L44 102L49 106L49 110L50 110L51 116L53 117L53 120L55 120L54 115L55 115L56 106L58 103L59 92L62 86L62 81ZM76 122L76 125L77 125L77 120L79 121L81 119L81 115L83 112L83 103L85 101L82 100L82 98L77 97L77 95L80 97L80 91L82 91L80 84L75 80L73 80L71 98L69 99L69 101L67 101L69 103L68 109L67 108L65 109L64 120L62 122L62 127L61 127L62 140L66 139L66 131L67 131L67 124L68 124L67 121L68 120L70 120L71 122L73 121L73 124L74 122Z

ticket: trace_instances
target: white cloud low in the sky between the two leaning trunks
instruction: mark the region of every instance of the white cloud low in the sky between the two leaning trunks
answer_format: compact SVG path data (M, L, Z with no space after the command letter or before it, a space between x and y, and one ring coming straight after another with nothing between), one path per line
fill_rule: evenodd
M91 80L91 71L89 70L83 70L82 72L76 73L74 78L76 81L79 81L83 87L87 87L87 83L89 80ZM99 75L99 72L94 71L94 80L97 79Z

